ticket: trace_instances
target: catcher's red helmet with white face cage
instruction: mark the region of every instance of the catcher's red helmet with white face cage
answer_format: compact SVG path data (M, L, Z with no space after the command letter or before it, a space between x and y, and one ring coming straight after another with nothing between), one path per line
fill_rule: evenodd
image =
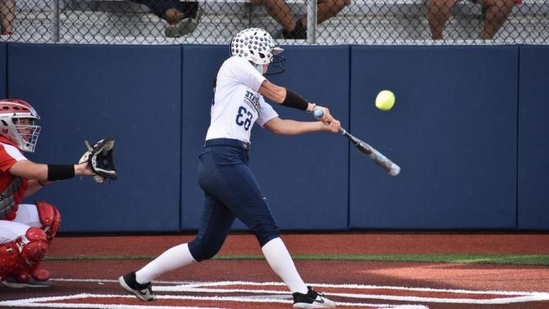
M39 125L34 125L38 119L40 116L27 101L0 100L0 134L23 151L34 152L41 130Z

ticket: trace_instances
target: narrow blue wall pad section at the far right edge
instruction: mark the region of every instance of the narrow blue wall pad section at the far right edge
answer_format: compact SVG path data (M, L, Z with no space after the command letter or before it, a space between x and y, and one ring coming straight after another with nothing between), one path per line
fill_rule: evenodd
M519 229L549 229L549 47L520 49Z

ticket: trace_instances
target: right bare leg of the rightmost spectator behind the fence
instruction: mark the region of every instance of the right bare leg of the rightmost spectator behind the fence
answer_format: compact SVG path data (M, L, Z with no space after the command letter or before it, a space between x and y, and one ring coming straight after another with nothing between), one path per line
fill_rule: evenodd
M479 0L479 4L486 10L484 15L484 30L482 39L493 39L500 27L507 20L507 16L515 5L514 0Z

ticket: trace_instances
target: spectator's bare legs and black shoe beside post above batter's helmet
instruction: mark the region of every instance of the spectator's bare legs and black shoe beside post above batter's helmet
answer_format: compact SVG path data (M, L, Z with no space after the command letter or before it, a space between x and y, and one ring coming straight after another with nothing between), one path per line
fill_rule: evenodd
M296 20L294 13L290 11L284 0L251 0L254 4L263 4L267 12L277 20L284 28L284 39L307 39L307 15ZM332 18L345 6L351 4L351 0L317 0L317 23Z

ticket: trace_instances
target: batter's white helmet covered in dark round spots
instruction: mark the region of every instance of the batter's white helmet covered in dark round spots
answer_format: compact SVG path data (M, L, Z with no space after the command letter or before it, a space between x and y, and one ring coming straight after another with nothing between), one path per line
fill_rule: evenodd
M248 28L231 40L231 56L246 58L255 64L269 64L274 55L284 49L274 44L269 32L260 28Z

